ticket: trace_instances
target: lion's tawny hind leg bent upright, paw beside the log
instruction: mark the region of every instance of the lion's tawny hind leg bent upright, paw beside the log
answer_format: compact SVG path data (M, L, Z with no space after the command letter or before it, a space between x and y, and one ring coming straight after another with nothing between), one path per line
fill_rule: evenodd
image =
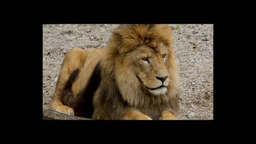
M68 51L60 69L56 89L50 105L51 110L58 111L59 113L67 115L74 115L74 110L72 108L63 105L61 94L70 75L73 74L75 70L79 70L83 67L85 59L86 53L83 49L73 48Z

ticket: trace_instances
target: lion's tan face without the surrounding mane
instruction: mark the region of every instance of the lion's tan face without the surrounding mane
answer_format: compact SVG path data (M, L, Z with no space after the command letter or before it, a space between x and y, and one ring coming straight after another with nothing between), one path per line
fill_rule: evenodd
M169 85L169 73L166 67L168 59L167 47L139 46L127 54L132 59L132 68L142 84L142 89L155 95L165 94Z

